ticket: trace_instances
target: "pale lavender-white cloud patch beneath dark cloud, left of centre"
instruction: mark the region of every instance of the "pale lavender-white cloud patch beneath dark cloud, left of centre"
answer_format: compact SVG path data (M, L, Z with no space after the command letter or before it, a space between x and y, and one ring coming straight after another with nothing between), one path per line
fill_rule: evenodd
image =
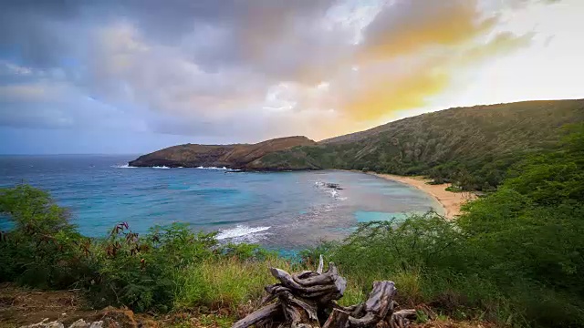
M220 117L265 92L264 77L245 67L205 71L175 47L152 43L127 22L96 31L88 87L111 102L153 112Z

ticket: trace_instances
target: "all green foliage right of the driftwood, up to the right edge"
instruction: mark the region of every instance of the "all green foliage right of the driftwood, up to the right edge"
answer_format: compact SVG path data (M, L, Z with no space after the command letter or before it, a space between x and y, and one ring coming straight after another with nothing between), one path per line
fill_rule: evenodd
M456 221L370 222L304 256L327 253L360 286L391 277L402 303L454 317L584 326L584 125L509 176Z

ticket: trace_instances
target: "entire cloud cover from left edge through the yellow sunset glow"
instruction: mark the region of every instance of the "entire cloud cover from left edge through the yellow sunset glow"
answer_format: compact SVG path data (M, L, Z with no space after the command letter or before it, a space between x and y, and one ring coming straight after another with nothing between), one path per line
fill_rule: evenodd
M5 2L0 124L248 139L352 132L529 46L533 35L501 30L497 4Z

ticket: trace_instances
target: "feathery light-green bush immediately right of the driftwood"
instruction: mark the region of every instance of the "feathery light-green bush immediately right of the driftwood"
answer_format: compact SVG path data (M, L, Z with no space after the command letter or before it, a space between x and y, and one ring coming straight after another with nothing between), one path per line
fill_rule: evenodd
M392 280L403 305L433 303L450 314L461 309L470 313L488 301L485 296L493 297L488 282L477 278L471 283L457 273L465 266L460 261L463 242L454 222L428 213L403 222L363 223L346 241L328 243L303 255L308 261L317 253L325 254L362 294L370 292L374 281Z

